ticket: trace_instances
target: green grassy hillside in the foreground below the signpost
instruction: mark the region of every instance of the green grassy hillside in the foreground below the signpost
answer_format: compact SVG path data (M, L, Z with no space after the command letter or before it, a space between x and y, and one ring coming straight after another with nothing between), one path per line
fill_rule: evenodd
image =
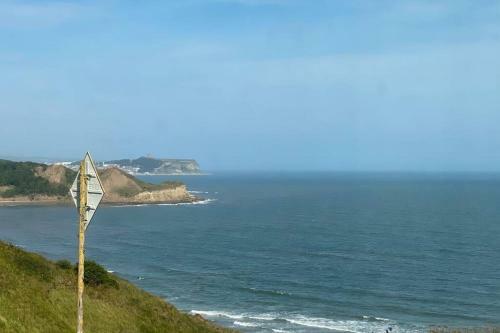
M91 268L84 296L86 333L234 332L181 313L97 265ZM74 333L75 327L73 265L0 242L0 332Z

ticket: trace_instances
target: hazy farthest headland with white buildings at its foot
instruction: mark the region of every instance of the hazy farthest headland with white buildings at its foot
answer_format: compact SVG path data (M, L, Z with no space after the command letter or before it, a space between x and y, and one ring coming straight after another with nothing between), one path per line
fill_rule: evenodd
M64 162L67 163L67 162ZM117 167L132 175L200 175L202 174L198 162L193 159L172 159L139 157L136 159L111 160L97 162L98 167ZM71 169L78 169L79 162L67 165Z

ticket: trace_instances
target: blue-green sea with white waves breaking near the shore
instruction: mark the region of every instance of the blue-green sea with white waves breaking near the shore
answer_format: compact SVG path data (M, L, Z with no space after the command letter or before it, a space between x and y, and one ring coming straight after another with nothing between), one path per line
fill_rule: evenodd
M500 325L500 176L225 173L197 205L102 206L86 254L242 332ZM76 212L0 207L0 238L76 261Z

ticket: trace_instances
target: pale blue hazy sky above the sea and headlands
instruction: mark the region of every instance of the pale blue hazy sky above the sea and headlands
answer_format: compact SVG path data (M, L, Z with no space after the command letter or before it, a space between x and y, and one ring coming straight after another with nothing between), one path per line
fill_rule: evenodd
M0 156L500 171L500 1L0 0Z

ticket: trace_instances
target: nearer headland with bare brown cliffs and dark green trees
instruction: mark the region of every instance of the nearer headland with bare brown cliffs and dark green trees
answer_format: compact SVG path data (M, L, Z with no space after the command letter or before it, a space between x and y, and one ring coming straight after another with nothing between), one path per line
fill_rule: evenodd
M150 184L116 166L99 169L108 204L192 203L202 200L178 181ZM60 164L0 160L0 204L70 202L76 171Z

